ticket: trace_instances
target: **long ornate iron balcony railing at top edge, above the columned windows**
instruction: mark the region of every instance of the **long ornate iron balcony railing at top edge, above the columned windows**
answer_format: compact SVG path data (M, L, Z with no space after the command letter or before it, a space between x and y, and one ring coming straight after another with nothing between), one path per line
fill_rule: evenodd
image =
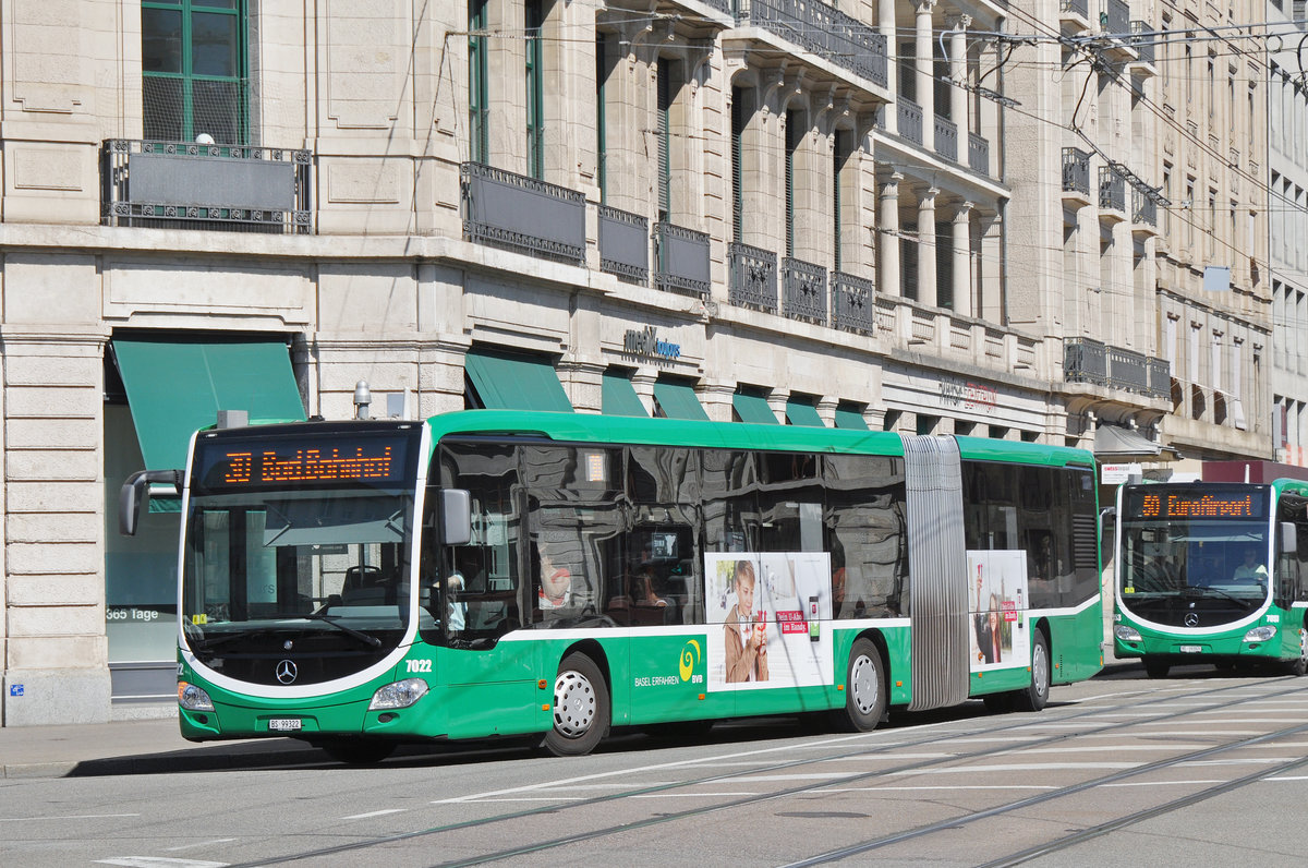
M739 26L761 27L846 72L887 86L886 37L815 0L734 0Z

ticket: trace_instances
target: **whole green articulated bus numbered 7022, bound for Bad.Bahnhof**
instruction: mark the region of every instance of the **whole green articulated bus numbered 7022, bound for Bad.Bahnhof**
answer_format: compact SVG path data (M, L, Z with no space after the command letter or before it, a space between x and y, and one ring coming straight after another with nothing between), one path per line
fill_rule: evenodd
M192 741L706 729L984 696L1103 665L1095 467L972 437L472 410L200 431L182 496Z

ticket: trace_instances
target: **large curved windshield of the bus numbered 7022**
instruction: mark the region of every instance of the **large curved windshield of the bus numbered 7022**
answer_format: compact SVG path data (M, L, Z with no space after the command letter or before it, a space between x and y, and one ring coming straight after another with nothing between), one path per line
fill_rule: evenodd
M356 435L348 450L330 437L306 449L302 436L198 446L204 473L190 499L181 604L183 640L200 662L252 683L319 683L399 644L412 605L412 487L402 469L361 478L374 473L369 450L405 446L387 433ZM327 454L337 466L324 470ZM364 470L349 478L340 454ZM293 473L289 461L301 462ZM286 660L290 681L279 672Z

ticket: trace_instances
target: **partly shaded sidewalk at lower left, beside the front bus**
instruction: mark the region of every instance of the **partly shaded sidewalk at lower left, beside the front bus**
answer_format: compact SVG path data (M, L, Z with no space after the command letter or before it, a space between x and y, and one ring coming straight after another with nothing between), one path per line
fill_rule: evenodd
M0 728L0 778L68 778L330 762L292 738L192 744L177 715L106 724Z

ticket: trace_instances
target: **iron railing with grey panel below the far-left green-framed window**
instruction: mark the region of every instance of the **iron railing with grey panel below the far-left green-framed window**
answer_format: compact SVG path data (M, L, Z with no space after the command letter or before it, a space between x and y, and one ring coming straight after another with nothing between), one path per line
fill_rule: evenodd
M290 148L107 139L101 220L110 226L313 232L313 154Z

